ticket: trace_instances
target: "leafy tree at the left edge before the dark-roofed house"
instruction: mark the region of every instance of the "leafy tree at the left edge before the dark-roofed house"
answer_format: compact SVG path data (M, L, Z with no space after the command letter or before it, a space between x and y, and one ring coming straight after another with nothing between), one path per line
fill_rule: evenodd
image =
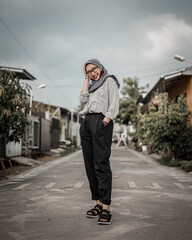
M29 124L30 86L7 70L0 71L0 144L19 142Z

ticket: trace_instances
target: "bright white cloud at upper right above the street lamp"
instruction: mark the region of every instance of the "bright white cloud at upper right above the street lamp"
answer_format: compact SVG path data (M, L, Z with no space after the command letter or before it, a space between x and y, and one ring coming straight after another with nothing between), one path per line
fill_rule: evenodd
M150 59L165 58L170 53L183 52L192 42L192 25L174 15L153 16L152 29L146 35L150 44L144 54ZM153 26L154 25L154 26Z

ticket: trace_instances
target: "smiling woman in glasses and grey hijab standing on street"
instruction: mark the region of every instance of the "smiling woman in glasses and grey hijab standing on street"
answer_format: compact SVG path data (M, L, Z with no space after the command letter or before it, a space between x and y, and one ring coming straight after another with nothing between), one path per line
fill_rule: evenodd
M96 200L95 207L88 210L86 216L99 215L98 224L110 224L112 172L109 158L113 119L119 112L120 84L97 59L85 62L83 71L85 82L79 100L86 104L80 136L92 200ZM89 80L92 81L90 85Z

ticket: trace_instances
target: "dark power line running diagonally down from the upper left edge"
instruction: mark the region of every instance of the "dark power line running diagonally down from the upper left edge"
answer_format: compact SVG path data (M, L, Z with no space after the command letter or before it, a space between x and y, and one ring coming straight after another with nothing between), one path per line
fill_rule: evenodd
M37 61L31 56L31 54L26 50L26 48L23 46L23 44L21 43L21 41L16 37L16 35L11 31L11 29L8 27L8 25L4 22L4 20L0 17L0 22L3 24L3 26L6 28L6 30L9 32L9 34L12 36L12 38L17 42L17 44L20 46L20 48L25 52L25 54L32 60L32 62L39 68L39 70L41 71L41 73L51 82L53 83L52 79L47 75L47 73L41 68L41 66L37 63ZM55 86L55 84L53 85ZM63 96L63 93L60 89L58 89L59 92ZM65 100L69 103L69 105L72 107L71 102L64 97Z

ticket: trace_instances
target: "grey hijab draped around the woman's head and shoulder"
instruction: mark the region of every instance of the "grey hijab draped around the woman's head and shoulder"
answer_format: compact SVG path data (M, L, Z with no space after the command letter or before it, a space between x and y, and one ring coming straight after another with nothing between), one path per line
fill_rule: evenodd
M101 72L103 72L103 74L100 76L100 78L98 80L92 80L88 92L94 92L95 90L97 90L99 87L101 87L103 85L103 83L105 82L107 77L111 77L117 84L118 88L120 88L120 83L117 80L117 78L114 75L110 75L107 70L104 68L104 66L99 62L99 60L97 59L89 59L88 61L85 62L85 69L86 66L88 64L94 64L95 66L97 66Z

